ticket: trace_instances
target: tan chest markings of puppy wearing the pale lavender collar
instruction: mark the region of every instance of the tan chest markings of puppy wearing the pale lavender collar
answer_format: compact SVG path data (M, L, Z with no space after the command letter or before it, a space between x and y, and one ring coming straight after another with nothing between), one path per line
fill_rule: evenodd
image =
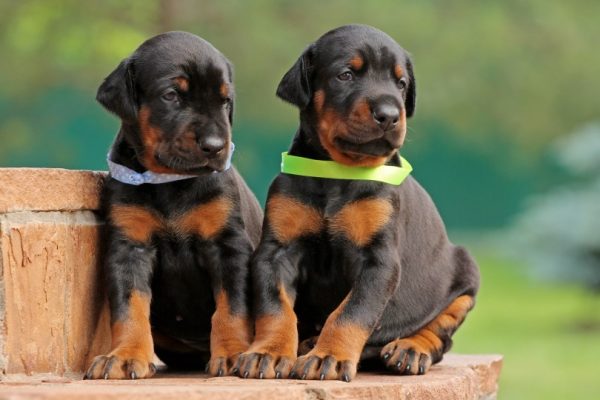
M148 242L156 235L180 238L194 235L210 240L227 226L233 211L233 202L219 196L168 210L139 204L113 204L110 220L125 236L137 242Z

